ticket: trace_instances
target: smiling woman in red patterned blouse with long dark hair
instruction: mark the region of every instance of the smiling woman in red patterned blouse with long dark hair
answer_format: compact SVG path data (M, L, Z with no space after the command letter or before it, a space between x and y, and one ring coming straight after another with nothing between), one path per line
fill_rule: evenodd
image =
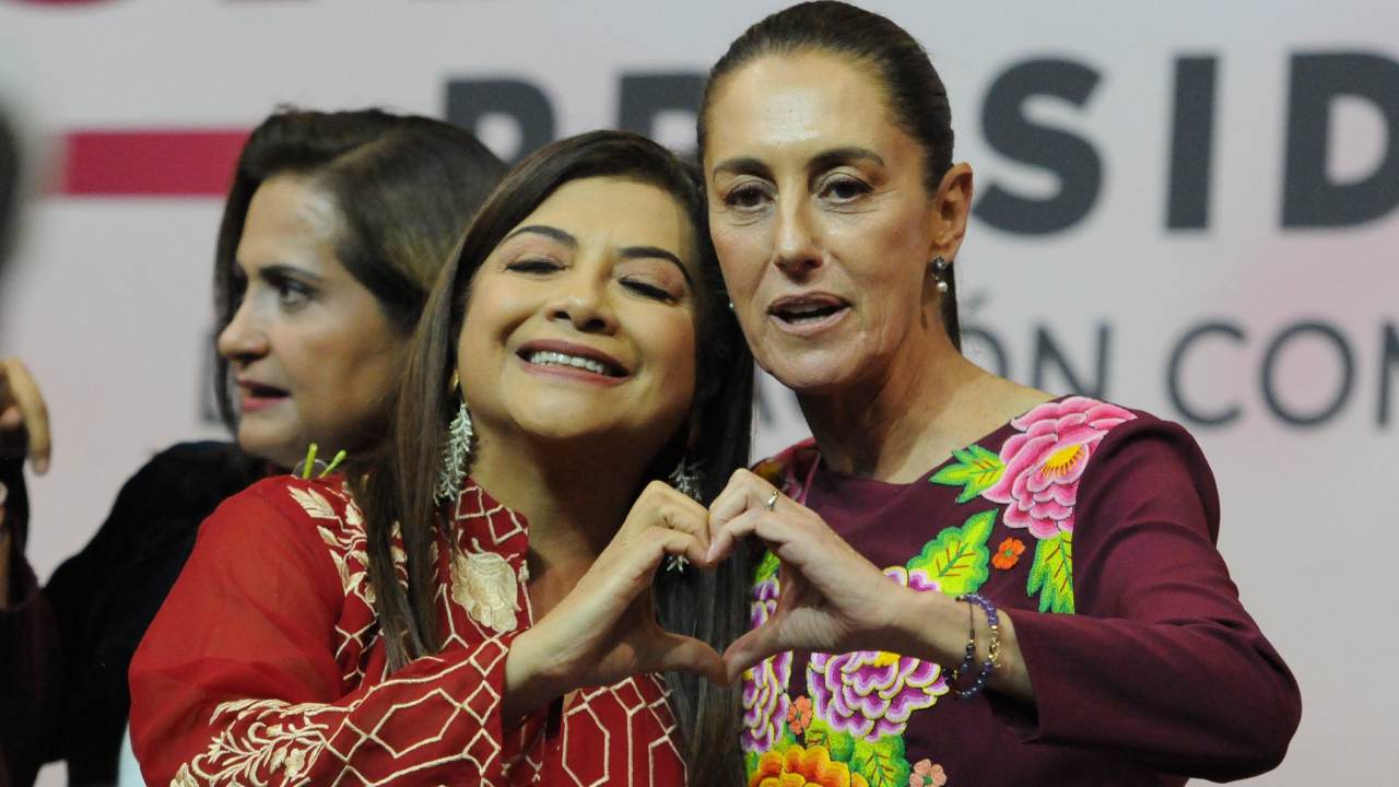
M751 360L704 217L697 175L634 134L506 178L365 480L269 479L201 528L132 665L150 783L740 776L704 746L737 735L737 695L697 678L725 679L741 606L706 601L736 567L658 573L705 563L708 529L656 479L708 500L747 452Z

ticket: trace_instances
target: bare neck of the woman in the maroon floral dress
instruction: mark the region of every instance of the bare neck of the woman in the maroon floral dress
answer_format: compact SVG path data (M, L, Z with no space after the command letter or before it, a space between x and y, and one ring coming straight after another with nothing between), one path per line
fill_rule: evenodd
M907 483L979 434L965 436L965 408L979 409L978 391L995 381L939 328L911 336L867 378L797 401L832 469Z

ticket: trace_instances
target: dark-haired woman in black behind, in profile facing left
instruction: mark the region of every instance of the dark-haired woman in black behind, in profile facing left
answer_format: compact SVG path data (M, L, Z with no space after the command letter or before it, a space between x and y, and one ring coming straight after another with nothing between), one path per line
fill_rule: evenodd
M504 169L471 134L427 118L287 111L253 130L214 267L217 394L238 443L151 459L42 591L62 651L59 731L43 753L67 760L70 784L116 781L127 665L199 524L311 443L329 457L382 438L432 280ZM0 679L20 685L59 658L34 641L0 646L17 654Z

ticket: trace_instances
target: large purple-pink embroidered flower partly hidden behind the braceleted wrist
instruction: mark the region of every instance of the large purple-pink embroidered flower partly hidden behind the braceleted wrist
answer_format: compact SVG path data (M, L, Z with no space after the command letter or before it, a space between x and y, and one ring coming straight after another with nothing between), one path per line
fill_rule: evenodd
M895 566L884 574L901 585L939 592L937 583L921 570ZM818 718L866 741L901 735L915 710L932 707L947 693L947 678L937 664L872 650L811 654L806 685Z

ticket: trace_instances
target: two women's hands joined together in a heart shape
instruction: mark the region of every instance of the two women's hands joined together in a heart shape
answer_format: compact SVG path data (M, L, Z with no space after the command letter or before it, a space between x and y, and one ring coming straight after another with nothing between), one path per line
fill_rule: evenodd
M649 485L572 592L512 644L511 704L539 707L581 686L645 672L694 672L732 685L748 667L785 650L842 653L888 641L904 588L814 511L775 493L757 475L737 471L705 511L660 482ZM768 620L722 657L701 640L666 632L651 591L660 562L677 555L700 570L712 569L750 536L782 562ZM515 669L522 674L512 676Z

